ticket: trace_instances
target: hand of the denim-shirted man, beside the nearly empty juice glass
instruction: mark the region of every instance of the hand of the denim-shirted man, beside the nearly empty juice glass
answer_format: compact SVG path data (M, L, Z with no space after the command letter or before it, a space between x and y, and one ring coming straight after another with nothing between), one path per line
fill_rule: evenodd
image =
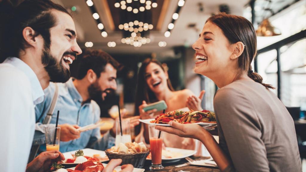
M80 138L80 131L76 130L80 128L78 125L61 124L61 141L70 141Z

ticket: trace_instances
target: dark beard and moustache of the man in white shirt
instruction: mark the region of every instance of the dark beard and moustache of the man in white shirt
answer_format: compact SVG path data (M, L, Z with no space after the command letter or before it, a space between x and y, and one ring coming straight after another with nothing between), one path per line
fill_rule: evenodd
M75 54L74 52L65 52L65 54ZM76 55L75 55L76 57ZM45 66L51 82L62 82L65 83L70 78L69 69L65 68L62 63L62 59L58 62L57 59L50 54L50 49L46 48L43 50L42 63Z

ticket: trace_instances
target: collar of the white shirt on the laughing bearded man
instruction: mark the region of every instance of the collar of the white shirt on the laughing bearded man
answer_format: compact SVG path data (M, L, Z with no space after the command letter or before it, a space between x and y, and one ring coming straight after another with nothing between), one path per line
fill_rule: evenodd
M24 63L22 60L16 57L6 58L6 60L3 63L9 63L15 66L17 69L24 72L28 76L31 82L33 103L36 105L36 104L43 102L44 95L45 95L43 92L43 88L41 87L36 74L30 68L30 66L28 66L26 63Z

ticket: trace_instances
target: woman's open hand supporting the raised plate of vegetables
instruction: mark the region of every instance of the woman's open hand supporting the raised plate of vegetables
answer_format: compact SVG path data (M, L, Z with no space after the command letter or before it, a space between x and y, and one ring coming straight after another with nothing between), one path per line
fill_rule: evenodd
M155 129L164 131L170 134L175 134L180 137L188 137L198 139L203 136L203 132L207 132L200 125L197 124L180 124L178 122L170 121L169 125L172 127L156 126Z

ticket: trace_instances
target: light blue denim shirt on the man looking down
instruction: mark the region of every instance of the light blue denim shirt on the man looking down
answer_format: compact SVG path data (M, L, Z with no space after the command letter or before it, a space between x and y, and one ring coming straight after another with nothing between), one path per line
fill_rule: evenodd
M73 79L70 78L69 81L66 83L58 83L59 87L59 96L58 101L56 103L56 106L54 108L54 112L51 118L51 122L49 125L55 125L56 123L56 117L57 117L57 111L59 110L59 119L58 124L71 124L71 125L79 125L80 127L83 127L85 125L89 125L92 123L97 122L100 119L100 108L98 104L91 100L88 102L85 102L83 105L81 104L83 102L83 99L80 95L80 93L76 90ZM50 83L49 87L47 87L45 92L45 101L43 103L40 103L36 105L35 107L35 114L36 114L36 131L34 136L34 142L39 144L42 144L40 146L39 151L45 151L45 140L44 135L40 137L36 137L36 133L44 133L44 128L48 125L42 125L42 122L44 118L46 117L47 111L50 108L51 101L54 95L55 91L55 84ZM39 119L39 117L43 114L42 118ZM39 119L39 121L37 121ZM36 138L35 138L36 137ZM114 137L111 137L110 134L106 134L103 137L103 146L104 148L100 149L106 149L110 148L112 145L114 145ZM67 151L74 151L78 149L83 149L87 147L92 147L93 143L96 142L101 138L100 130L99 128L88 130L85 132L82 132L80 135L80 138L75 140L70 140L67 142L60 142L60 151L61 152L67 152ZM36 139L36 140L35 140ZM37 141L39 140L40 141ZM43 142L41 142L43 141ZM105 143L109 142L109 143ZM97 148L97 147L96 147Z

